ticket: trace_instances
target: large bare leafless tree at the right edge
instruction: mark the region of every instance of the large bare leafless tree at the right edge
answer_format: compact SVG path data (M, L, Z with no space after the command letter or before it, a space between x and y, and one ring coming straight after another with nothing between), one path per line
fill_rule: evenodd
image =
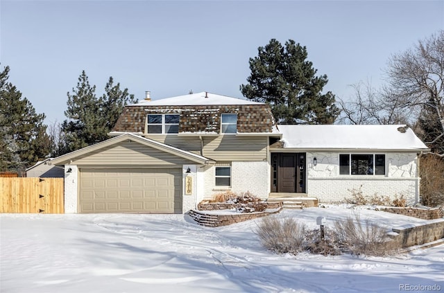
M386 101L396 101L399 109L417 114L416 118L422 116L421 138L444 153L444 30L392 55L386 73L391 89Z

